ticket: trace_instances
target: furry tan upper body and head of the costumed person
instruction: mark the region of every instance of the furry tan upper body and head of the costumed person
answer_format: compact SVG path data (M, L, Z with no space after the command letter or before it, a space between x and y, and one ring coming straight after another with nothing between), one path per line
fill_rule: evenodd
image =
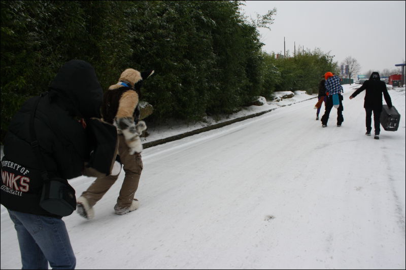
M138 121L140 115L138 103L142 83L153 73L154 70L140 72L127 68L121 73L118 83L110 86L106 92L107 104L104 104L102 114L111 115L110 121L117 127L117 131L124 135L130 148L130 155L143 150L140 136L147 129L147 125L144 121ZM106 121L109 122L109 119Z

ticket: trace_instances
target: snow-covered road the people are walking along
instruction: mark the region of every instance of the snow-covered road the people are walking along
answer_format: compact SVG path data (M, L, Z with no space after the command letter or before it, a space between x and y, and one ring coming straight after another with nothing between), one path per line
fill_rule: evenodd
M77 269L404 269L405 88L389 87L402 117L379 140L364 135L364 94L350 100L355 89L344 86L342 127L333 108L322 128L316 99L303 94L145 149L140 209L114 214L122 173L93 220L64 218ZM93 180L70 183L79 196ZM1 268L21 268L3 206L1 228Z

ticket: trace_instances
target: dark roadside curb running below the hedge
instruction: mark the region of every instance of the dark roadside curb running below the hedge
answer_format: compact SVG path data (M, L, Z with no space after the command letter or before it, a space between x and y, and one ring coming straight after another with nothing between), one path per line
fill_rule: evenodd
M290 105L300 103L300 102L303 102L303 101L307 101L307 100L310 100L310 99L314 99L314 98L317 98L317 97L312 97L312 98L304 99L304 100L297 101L297 102L294 102L294 103L291 103L291 104L282 105L282 106L277 107L277 108L256 112L256 113L253 113L253 114L250 114L250 115L245 115L244 117L239 117L239 118L236 118L236 119L233 119L233 120L229 120L229 121L225 121L225 122L222 122L222 123L210 125L210 126L207 126L207 127L204 127L204 128L195 129L195 130L188 131L188 132L185 132L185 133L181 133L181 134L178 134L178 135L174 135L174 136L171 136L171 137L167 137L167 138L163 138L163 139L159 139L159 140L155 140L155 141L151 141L151 142L146 142L146 143L143 143L143 148L146 149L146 148L153 147L153 146L156 146L156 145L159 145L159 144L164 144L164 143L167 143L167 142L180 140L180 139L183 139L183 138L186 138L186 137L189 137L189 136L192 136L192 135L196 135L196 134L199 134L199 133L202 133L202 132L206 132L206 131L209 131L209 130L222 128L222 127L225 127L225 126L237 123L237 122L241 122L241 121L244 121L244 120L247 120L247 119L250 119L250 118L259 117L262 114L268 113L270 111L273 111L273 110L276 110L276 109L279 109L279 108L282 108L282 107L285 107L285 106L290 106Z

